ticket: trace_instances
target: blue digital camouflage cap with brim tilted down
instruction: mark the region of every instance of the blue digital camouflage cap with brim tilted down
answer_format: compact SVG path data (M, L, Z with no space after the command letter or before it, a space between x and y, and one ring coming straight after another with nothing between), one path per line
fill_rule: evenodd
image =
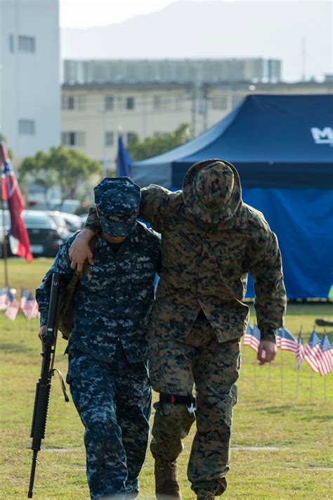
M93 191L103 231L110 236L129 236L138 217L139 186L128 177L105 177Z

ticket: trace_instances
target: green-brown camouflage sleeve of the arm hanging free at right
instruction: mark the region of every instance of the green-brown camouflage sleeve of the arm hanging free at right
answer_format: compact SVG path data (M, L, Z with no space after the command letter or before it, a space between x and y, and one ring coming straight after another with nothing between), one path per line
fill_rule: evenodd
M252 252L249 271L254 278L254 307L261 340L275 342L275 330L284 323L287 297L278 238L269 227Z

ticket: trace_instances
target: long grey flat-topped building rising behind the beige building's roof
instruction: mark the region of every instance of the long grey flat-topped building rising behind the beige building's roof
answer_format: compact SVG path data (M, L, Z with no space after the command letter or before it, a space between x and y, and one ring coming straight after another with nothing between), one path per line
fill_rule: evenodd
M110 59L64 61L65 83L160 82L201 84L281 80L281 60L228 59Z

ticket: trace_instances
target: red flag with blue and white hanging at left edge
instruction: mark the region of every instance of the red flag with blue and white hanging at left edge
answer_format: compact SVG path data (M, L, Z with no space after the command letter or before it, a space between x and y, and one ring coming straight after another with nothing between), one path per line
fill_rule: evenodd
M18 180L15 177L11 160L8 156L6 146L0 143L0 161L1 161L1 181L2 198L8 203L8 210L11 214L11 236L17 240L17 248L12 249L15 255L23 257L27 262L32 262L32 253L30 250L30 241L25 228L25 223L21 217L25 203L22 198Z

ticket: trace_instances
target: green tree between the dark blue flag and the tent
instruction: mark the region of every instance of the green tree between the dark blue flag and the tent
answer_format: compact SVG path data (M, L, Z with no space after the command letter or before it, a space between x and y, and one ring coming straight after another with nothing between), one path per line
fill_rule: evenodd
M174 132L157 137L146 137L143 142L140 142L138 134L133 134L127 144L127 150L132 160L145 160L145 158L151 158L181 146L188 139L190 139L190 127L188 124L182 123Z

